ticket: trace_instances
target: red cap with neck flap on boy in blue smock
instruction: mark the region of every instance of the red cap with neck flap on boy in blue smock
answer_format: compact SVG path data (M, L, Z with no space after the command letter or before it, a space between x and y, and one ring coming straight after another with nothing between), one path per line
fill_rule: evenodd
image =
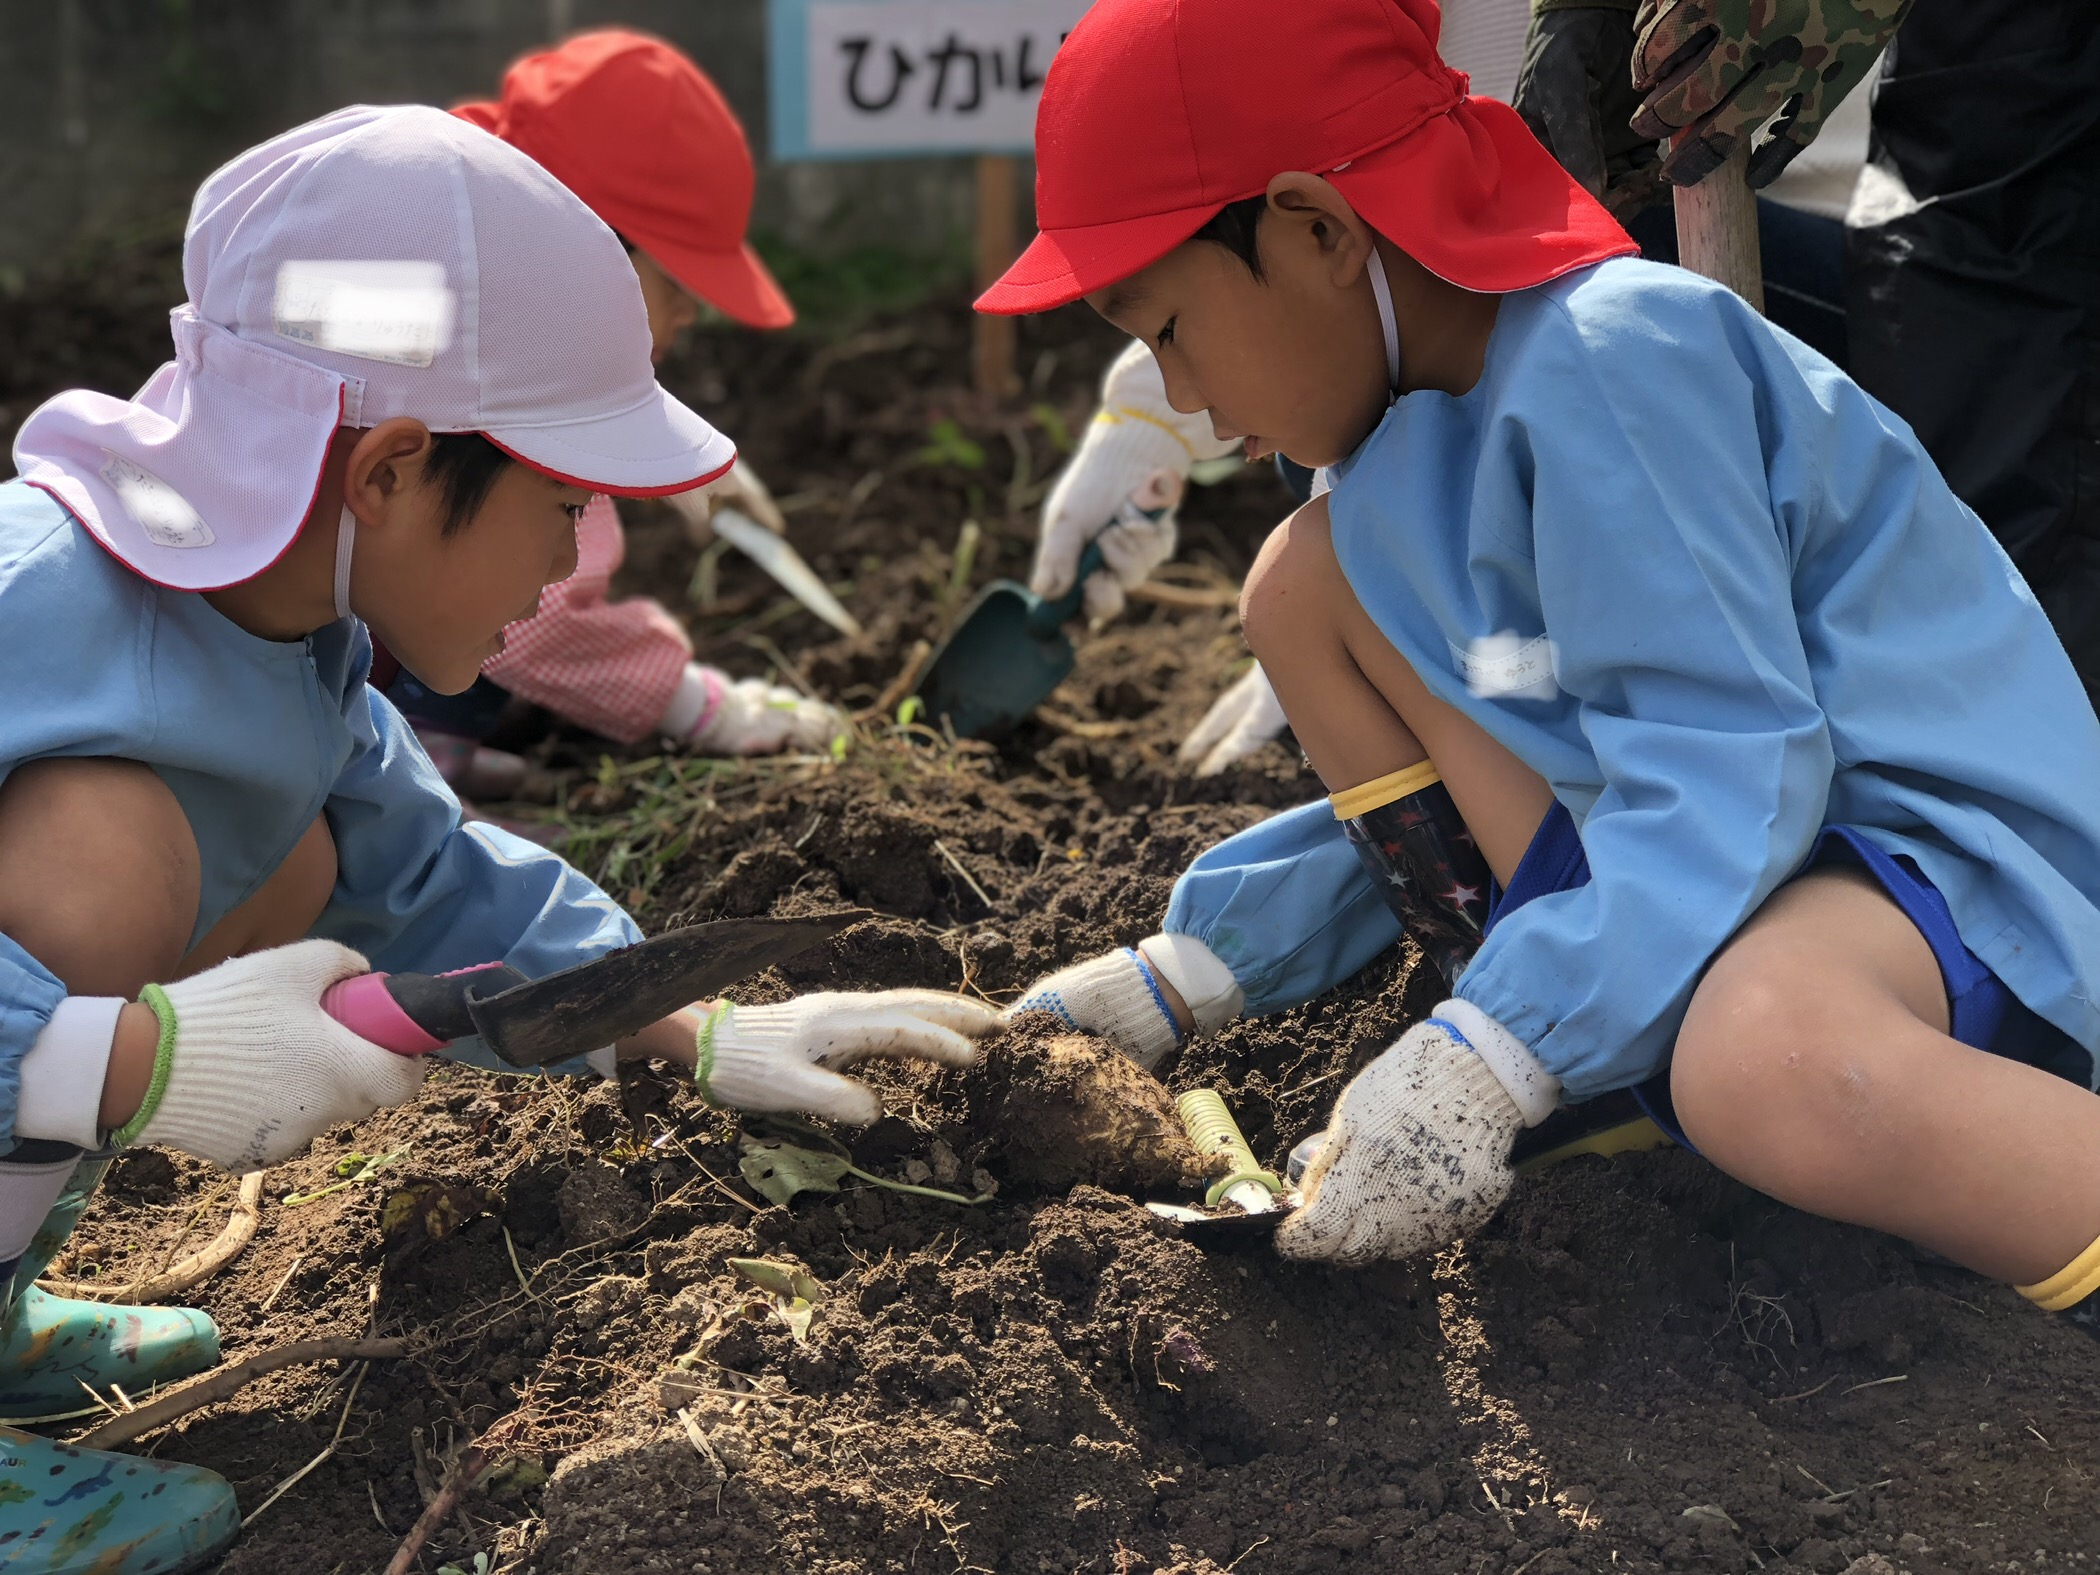
M1035 113L1042 233L979 311L1063 307L1285 170L1466 290L1638 250L1516 111L1436 55L1434 0L1096 0Z

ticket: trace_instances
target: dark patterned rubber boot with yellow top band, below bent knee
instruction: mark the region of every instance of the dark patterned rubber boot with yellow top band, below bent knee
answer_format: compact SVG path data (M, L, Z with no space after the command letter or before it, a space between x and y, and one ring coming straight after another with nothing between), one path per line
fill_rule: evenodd
M1436 766L1424 760L1327 802L1386 907L1445 985L1457 985L1480 949L1493 878Z

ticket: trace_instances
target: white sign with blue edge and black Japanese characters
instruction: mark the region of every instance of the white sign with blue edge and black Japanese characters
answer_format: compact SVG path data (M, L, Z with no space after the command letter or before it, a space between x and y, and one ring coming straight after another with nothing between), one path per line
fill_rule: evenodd
M775 158L1025 153L1088 0L773 0Z

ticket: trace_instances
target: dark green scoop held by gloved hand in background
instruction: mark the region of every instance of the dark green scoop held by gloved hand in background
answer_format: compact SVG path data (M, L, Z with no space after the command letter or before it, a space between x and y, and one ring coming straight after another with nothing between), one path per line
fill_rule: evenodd
M918 695L926 720L945 716L958 739L981 739L1018 727L1071 672L1065 626L1086 603L1086 578L1102 567L1090 542L1079 571L1056 601L1012 580L993 580L926 664Z

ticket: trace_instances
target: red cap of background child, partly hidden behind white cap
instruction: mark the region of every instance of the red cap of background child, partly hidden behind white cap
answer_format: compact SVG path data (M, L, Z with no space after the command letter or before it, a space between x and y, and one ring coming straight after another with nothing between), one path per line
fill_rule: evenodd
M580 34L504 74L496 103L452 113L529 153L672 279L750 328L794 307L743 242L752 149L720 90L670 44Z

